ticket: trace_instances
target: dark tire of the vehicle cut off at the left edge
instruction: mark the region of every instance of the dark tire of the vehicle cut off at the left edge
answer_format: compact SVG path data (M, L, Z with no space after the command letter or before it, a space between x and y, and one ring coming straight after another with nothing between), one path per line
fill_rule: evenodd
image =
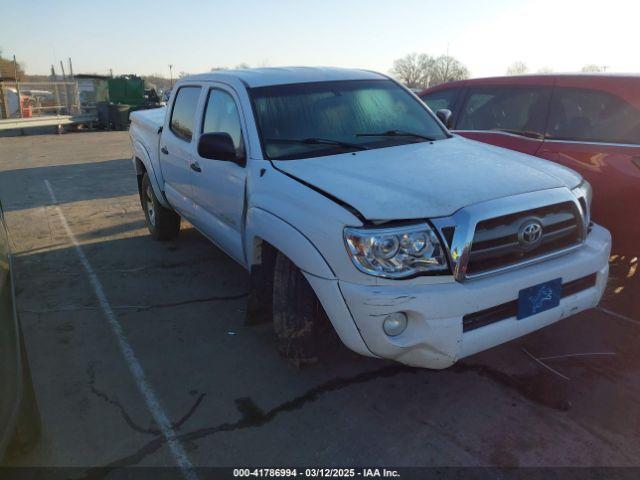
M29 358L25 349L24 337L20 330L20 352L22 358L22 402L16 424L16 431L7 449L10 456L31 451L40 438L42 423L40 409L33 388Z

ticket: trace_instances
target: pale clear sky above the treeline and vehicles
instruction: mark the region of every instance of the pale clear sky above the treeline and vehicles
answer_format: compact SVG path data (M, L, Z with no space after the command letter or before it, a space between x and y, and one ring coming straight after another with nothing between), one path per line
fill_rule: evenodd
M213 67L324 65L389 72L449 52L473 77L640 72L640 2L626 0L0 0L0 48L29 74L174 76Z

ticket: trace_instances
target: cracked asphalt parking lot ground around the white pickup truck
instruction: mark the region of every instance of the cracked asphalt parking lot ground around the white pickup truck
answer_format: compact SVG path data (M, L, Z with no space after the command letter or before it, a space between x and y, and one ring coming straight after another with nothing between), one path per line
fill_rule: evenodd
M602 308L448 370L348 352L297 369L244 325L241 267L187 224L148 236L129 157L126 132L0 138L43 417L11 465L176 465L121 340L195 466L640 465L637 259L612 257Z

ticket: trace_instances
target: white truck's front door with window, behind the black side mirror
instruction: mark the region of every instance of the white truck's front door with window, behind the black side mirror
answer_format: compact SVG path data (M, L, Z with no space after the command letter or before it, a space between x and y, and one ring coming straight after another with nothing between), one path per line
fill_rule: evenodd
M196 203L196 223L220 248L241 264L243 208L246 180L246 149L238 103L232 91L211 88L205 101L200 134L228 133L235 145L237 162L202 158L195 154L191 184Z

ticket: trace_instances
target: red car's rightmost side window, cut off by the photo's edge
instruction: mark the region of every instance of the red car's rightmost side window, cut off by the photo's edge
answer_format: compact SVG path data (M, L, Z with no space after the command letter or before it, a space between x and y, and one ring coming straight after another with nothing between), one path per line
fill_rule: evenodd
M547 136L640 144L640 110L606 92L558 88L551 102Z

